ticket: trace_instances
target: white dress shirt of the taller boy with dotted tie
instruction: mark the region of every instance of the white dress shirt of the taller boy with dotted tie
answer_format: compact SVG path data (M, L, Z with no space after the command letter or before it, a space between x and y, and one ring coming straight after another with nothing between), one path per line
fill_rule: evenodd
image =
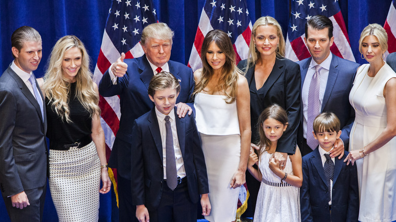
M165 127L165 117L166 115L160 113L155 107L155 114L157 115L158 119L158 125L159 125L159 132L161 133L161 141L162 141L162 164L163 164L163 179L167 179L167 171L166 171L166 165L167 165L167 151L166 151L166 141L167 141L167 129ZM175 122L175 112L173 109L171 110L171 113L169 113L169 121L171 122L171 128L172 128L172 136L173 136L173 146L175 149L175 157L176 157L176 170L177 170L177 176L180 178L183 178L186 176L186 171L184 169L184 162L183 162L183 157L182 153L180 150L180 145L179 145L179 138L177 136L177 130L176 130L176 122Z

